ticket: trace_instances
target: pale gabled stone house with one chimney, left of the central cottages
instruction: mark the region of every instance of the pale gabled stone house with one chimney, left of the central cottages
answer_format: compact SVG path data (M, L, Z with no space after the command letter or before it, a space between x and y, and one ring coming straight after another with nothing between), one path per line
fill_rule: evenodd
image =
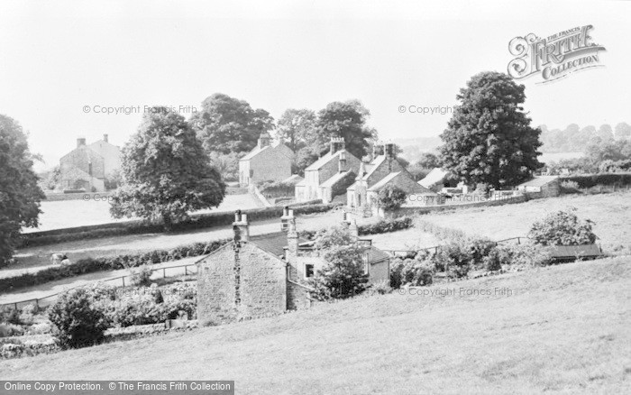
M270 134L261 133L256 147L239 160L239 184L245 188L261 181L288 179L293 156L283 142L272 145Z

